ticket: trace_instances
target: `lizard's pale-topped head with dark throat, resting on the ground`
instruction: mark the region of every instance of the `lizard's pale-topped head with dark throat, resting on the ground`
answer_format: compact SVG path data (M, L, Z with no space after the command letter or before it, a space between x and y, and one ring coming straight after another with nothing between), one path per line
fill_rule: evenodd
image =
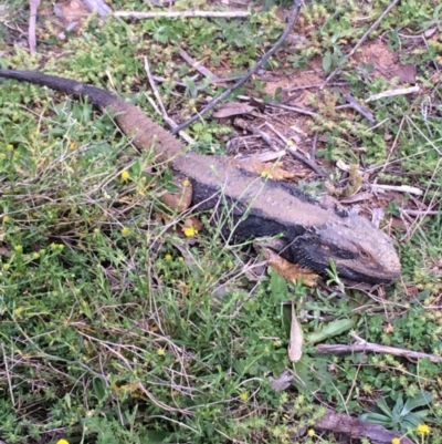
M333 260L339 276L355 281L382 283L400 276L391 239L358 215L341 216L335 223L307 229L288 248L297 264L320 273Z

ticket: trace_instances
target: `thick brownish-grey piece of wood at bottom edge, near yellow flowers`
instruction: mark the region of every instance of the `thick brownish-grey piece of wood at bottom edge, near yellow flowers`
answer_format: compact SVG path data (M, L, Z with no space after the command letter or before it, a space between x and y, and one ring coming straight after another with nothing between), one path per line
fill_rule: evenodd
M315 424L315 427L343 433L355 440L367 437L372 444L391 444L394 438L400 438L400 444L414 444L409 437L391 432L382 425L369 423L329 409L325 416Z

